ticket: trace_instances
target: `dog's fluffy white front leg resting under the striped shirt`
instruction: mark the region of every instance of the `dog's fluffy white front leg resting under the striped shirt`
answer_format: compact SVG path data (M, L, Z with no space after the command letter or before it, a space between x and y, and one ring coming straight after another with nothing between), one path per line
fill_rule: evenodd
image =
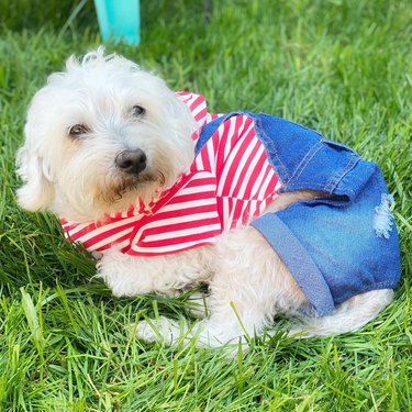
M144 293L175 296L177 291L205 281L211 269L207 247L165 256L129 256L110 249L99 260L98 276L116 297Z

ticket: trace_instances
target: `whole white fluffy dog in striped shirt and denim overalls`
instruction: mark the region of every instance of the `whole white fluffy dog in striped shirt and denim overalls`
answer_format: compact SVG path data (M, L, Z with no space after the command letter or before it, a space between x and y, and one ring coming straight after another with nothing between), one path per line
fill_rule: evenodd
M198 322L141 321L144 341L246 343L278 313L298 320L296 336L347 333L393 298L381 172L310 129L210 114L200 94L99 48L49 76L24 133L19 204L57 215L115 297L208 286Z

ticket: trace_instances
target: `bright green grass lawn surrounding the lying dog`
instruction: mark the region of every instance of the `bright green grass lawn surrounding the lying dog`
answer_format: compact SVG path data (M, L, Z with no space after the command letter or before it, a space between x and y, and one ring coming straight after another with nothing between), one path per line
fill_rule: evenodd
M265 111L377 162L396 197L402 280L360 332L257 338L247 356L140 343L187 296L114 299L55 218L15 203L27 103L71 53L100 44L91 2L0 0L0 411L412 411L412 9L388 0L142 1L142 44L108 45L204 93Z

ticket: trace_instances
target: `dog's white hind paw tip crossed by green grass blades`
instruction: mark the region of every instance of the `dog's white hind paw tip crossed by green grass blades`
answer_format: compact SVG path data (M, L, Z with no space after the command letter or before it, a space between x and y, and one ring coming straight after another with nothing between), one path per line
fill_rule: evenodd
M179 339L180 334L180 323L166 316L141 321L136 326L136 336L144 342L163 342L167 345L174 345Z

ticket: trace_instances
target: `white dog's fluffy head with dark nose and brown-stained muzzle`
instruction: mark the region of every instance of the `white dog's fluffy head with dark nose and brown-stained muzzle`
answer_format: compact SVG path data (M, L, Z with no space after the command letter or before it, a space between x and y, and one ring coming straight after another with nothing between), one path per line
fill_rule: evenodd
M134 63L102 49L70 57L29 109L18 201L76 220L148 202L190 165L194 129L180 99Z

